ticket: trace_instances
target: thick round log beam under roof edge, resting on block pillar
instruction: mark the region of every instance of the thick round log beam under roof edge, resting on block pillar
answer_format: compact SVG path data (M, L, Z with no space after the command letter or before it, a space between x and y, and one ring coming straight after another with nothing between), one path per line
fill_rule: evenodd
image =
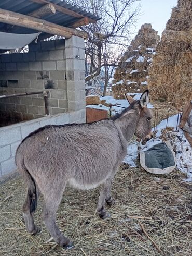
M79 36L81 38L87 38L87 33L72 28L66 28L46 20L33 18L28 15L14 13L0 9L0 22L17 25L24 28L30 28L37 31L43 31L53 35L61 35L65 38L71 38L72 35Z

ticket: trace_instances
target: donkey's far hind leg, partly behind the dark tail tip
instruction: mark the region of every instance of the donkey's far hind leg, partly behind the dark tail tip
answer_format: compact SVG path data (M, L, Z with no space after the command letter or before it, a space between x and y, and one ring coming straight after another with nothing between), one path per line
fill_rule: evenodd
M23 218L26 225L26 230L28 230L29 233L35 235L40 232L40 228L34 224L33 215L36 207L33 206L34 199L32 198L30 192L31 189L29 188L26 194L25 202L23 204ZM34 195L34 197L36 197L37 200L37 194Z

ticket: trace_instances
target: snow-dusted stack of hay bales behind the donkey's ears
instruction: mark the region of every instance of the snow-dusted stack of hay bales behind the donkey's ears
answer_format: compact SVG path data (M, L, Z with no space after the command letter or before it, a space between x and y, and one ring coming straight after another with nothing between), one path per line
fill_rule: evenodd
M128 92L138 93L147 89L148 67L158 41L157 31L151 24L141 26L115 71L112 91L116 99L124 99Z

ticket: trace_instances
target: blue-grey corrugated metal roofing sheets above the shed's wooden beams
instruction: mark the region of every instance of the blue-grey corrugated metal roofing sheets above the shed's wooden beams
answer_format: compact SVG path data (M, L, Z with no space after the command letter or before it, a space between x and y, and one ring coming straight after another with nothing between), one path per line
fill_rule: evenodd
M98 16L95 16L94 14L91 14L90 12L87 12L86 10L83 10L81 8L78 8L75 5L67 4L65 1L60 0L48 0L48 2L60 5L68 10L75 11L75 13L78 13L80 15L83 15L85 17L88 17L90 19L93 19L95 21L99 20L100 18ZM15 13L20 14L29 14L32 13L32 11L39 9L43 5L37 4L34 2L31 2L30 0L1 0L0 1L0 8L5 10L14 11ZM47 15L43 17L42 19L64 26L69 27L72 23L79 20L79 18L76 18L74 16L70 16L67 14L60 13L59 11L56 11L56 14ZM34 33L36 30L28 29L28 28L22 28L22 27L15 27L14 31L11 31L12 25L5 25L5 23L0 22L0 31L3 32L14 32L14 33ZM42 33L46 34L46 33Z

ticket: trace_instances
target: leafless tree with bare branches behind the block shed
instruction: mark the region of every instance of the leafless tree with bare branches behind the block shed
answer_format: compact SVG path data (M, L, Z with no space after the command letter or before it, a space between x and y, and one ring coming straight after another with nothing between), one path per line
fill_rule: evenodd
M85 42L86 82L91 85L90 81L97 77L104 67L103 94L105 95L110 75L109 67L117 65L121 53L127 47L130 27L134 25L135 18L139 14L140 4L134 5L138 0L69 0L68 2L101 17L97 23L80 29L88 33L88 40Z

